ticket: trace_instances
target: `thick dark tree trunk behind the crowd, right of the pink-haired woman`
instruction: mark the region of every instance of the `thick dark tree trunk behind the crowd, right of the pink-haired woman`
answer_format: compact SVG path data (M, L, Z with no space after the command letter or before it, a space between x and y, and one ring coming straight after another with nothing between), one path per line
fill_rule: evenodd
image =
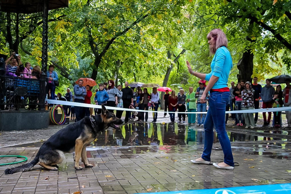
M239 70L239 74L237 74L237 81L252 81L251 77L253 74L253 59L254 55L251 50L244 51L242 58L237 63L237 69Z

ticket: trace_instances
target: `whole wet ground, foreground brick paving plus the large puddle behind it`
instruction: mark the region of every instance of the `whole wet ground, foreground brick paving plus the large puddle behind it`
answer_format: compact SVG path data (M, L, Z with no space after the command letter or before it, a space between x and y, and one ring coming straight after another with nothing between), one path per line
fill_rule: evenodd
M229 124L239 166L220 170L190 162L203 152L203 127L167 120L159 116L158 123L132 122L100 133L87 148L93 168L74 170L74 154L65 155L58 171L35 165L28 172L4 175L8 166L0 166L0 193L150 193L291 182L290 129L273 134L277 129L272 127L250 130ZM31 161L43 140L62 127L2 131L0 155L22 155ZM0 164L19 160L0 158ZM214 138L212 162L217 161L223 161L223 153Z

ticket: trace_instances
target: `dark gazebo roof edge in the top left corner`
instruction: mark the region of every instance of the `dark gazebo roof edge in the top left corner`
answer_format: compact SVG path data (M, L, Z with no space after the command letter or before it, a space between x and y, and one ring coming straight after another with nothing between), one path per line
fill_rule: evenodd
M69 0L47 0L48 9L69 6ZM1 11L7 13L37 13L42 12L44 0L0 0Z

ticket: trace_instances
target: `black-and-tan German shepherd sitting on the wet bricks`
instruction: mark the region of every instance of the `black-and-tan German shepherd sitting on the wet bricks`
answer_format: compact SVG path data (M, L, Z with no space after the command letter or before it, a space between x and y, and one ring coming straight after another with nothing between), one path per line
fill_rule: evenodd
M97 138L100 131L108 127L117 129L123 121L113 113L106 110L102 105L102 112L97 116L85 117L79 122L69 124L52 135L39 149L36 157L27 164L15 168L7 168L5 174L13 174L20 171L28 171L37 163L48 170L58 170L58 165L65 157L64 153L75 150L74 166L76 170L81 170L79 166L80 157L85 167L93 167L88 163L86 156L86 146Z

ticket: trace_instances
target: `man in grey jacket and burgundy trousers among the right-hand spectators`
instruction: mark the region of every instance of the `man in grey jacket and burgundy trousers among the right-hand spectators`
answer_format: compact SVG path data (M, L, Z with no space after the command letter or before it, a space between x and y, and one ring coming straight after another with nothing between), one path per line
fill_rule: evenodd
M270 84L270 79L266 79L266 85L262 88L261 99L263 101L263 108L272 108L272 97L275 92L275 88ZM272 112L268 112L268 119L266 118L266 112L263 112L264 124L268 126L270 124Z

